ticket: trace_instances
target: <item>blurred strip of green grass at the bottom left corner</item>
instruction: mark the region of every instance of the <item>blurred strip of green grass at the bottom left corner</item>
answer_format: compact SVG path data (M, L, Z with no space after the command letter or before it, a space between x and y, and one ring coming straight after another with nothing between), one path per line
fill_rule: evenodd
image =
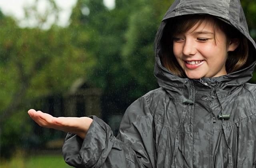
M10 161L0 163L0 168L73 168L64 162L62 155L36 155L24 157L17 154Z

